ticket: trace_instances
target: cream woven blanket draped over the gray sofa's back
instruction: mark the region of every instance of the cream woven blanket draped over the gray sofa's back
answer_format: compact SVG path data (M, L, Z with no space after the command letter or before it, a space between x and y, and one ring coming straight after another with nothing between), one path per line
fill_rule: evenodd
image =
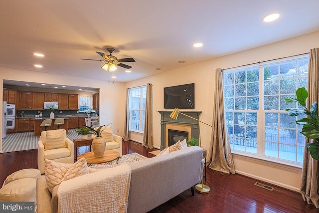
M58 213L126 213L131 167L122 164L64 181L58 189Z

